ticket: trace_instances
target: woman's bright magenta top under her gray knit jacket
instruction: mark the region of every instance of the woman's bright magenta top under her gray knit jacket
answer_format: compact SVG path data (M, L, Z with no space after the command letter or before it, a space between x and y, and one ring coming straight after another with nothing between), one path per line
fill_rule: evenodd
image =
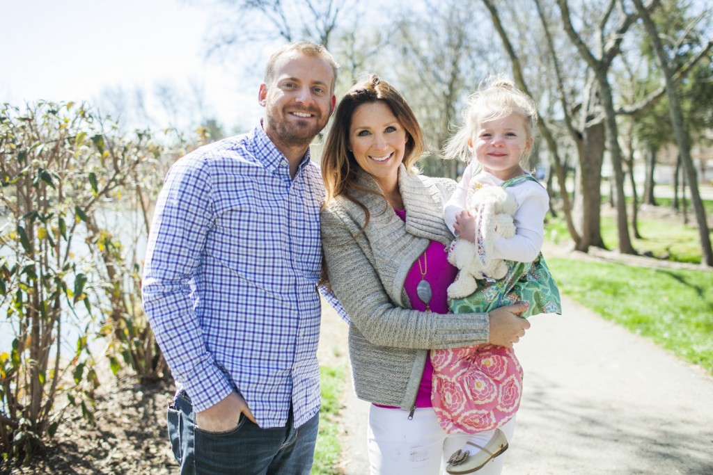
M394 209L396 216L401 218L401 221L406 221L405 209ZM419 268L419 263L421 264ZM429 306L432 312L435 313L450 313L448 309L448 294L446 290L448 286L456 280L458 268L448 262L448 250L446 246L438 241L431 241L426 252L419 256L418 261L414 262L411 270L406 275L404 281L404 290L411 301L411 308L414 310L426 310L426 304L421 301L416 294L416 286L421 281L421 272L425 275L423 278L431 284L433 297ZM421 385L419 392L416 394L416 407L433 407L431 404L431 387L433 386L434 366L431 365L431 358L426 357L426 366L424 367L424 375L421 376ZM381 406L385 407L385 406Z

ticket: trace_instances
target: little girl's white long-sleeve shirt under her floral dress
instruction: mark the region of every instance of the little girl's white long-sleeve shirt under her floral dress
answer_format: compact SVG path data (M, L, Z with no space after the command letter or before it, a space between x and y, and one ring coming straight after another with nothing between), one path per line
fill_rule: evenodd
M466 209L466 199L471 183L478 182L496 187L503 184L503 180L488 172L481 171L473 174L477 166L477 162L474 161L468 164L468 167L463 171L461 181L458 182L456 192L443 206L443 218L453 234L456 234L453 229L453 225L456 224L456 216ZM507 187L505 191L515 199L515 203L518 205L513 216L515 236L510 239L497 236L493 244L492 257L508 261L532 262L542 249L545 214L549 208L550 197L542 185L529 179ZM471 239L474 237L472 236Z

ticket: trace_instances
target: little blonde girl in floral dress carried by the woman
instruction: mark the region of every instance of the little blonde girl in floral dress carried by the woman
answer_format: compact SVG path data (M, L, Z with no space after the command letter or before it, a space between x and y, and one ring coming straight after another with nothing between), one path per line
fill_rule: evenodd
M522 316L561 313L558 288L540 254L548 210L546 190L522 163L532 150L537 108L533 100L508 80L491 79L471 95L465 126L446 145L446 157L476 160L468 164L456 192L443 208L446 224L458 239L472 241L483 256L478 213L466 210L468 193L481 187L503 187L517 204L515 236L495 236L489 259L505 259L506 276L488 278L475 293L451 298L453 313L486 312L515 301L529 304ZM492 239L488 236L488 239ZM512 348L478 345L432 350L434 385L431 399L438 422L448 432L472 434L448 460L449 474L468 474L508 448L501 431L514 424L520 405L522 368ZM512 430L512 429L511 429ZM507 432L511 432L511 430ZM502 466L503 458L494 462ZM488 472L500 473L491 466Z

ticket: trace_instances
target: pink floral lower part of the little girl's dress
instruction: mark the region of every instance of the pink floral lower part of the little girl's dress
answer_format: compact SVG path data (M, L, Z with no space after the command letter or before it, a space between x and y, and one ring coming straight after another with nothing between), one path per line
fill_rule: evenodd
M448 433L475 434L515 416L523 392L523 368L515 351L496 345L431 350L431 403Z

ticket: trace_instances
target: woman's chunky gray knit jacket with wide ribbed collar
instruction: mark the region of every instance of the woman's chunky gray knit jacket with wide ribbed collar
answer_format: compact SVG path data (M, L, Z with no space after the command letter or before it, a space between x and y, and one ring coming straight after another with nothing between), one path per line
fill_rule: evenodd
M379 190L361 171L361 186ZM371 217L337 197L322 211L322 246L334 295L349 314L349 357L359 399L411 409L429 348L488 341L488 314L439 315L410 310L406 274L429 240L448 245L443 203L455 189L449 179L424 177L399 168L406 222L376 194L355 192Z

